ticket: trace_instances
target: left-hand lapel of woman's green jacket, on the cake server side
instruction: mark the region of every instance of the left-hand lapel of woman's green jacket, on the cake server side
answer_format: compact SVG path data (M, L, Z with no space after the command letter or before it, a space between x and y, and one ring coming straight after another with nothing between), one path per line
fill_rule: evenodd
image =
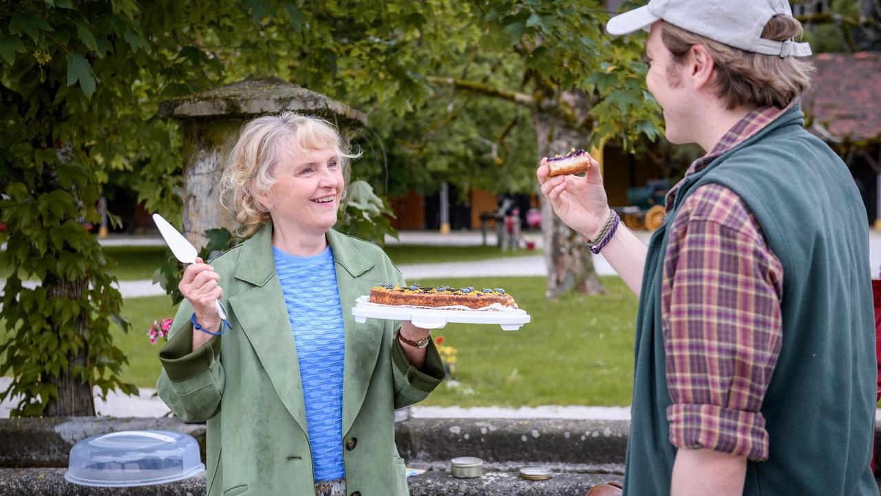
M308 433L300 362L272 255L272 224L246 241L241 250L235 278L255 288L231 297L229 303L278 397Z

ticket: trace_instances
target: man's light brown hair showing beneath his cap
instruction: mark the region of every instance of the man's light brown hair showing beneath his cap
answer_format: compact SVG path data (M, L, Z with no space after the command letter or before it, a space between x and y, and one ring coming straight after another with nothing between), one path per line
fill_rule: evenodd
M797 19L778 15L765 25L762 38L787 41L801 37L802 33L802 24ZM707 49L714 62L712 88L728 109L741 106L782 109L811 87L814 66L805 59L793 56L781 58L736 49L666 21L661 21L661 40L677 65L685 63L692 46L700 44ZM668 66L667 69L670 84L676 86L674 68Z

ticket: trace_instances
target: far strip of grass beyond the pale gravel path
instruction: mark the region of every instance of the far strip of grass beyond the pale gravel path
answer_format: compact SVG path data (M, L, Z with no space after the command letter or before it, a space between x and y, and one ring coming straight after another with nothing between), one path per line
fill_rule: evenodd
M104 251L115 259L118 266L114 270L120 281L152 279L156 268L166 257L165 246L107 246ZM429 264L440 262L473 261L500 257L522 257L540 254L540 251L519 250L502 252L495 246L416 246L395 244L385 248L389 258L397 265ZM0 259L0 279L11 274L11 268ZM19 274L24 277L25 274Z

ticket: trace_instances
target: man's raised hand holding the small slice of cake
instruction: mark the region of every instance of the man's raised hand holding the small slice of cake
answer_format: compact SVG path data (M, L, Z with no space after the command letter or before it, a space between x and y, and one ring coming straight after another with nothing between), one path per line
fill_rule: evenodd
M572 175L548 177L551 169L547 157L542 159L536 176L542 194L551 201L557 214L570 228L581 236L596 237L609 219L609 199L603 188L603 176L599 164L590 159L590 169L585 177Z

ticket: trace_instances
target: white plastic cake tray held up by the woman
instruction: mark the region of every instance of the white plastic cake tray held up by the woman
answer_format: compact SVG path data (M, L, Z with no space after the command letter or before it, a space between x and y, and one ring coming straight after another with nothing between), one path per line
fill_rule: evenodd
M369 296L359 297L352 315L359 323L367 319L410 320L423 329L441 329L448 323L498 324L506 331L516 331L532 319L525 310L444 310L416 306L370 303Z

